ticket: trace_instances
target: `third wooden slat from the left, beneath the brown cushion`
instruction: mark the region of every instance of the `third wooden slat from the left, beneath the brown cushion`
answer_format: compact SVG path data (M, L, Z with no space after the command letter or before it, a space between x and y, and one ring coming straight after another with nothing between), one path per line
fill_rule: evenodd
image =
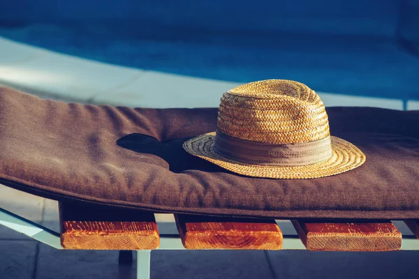
M393 251L402 234L391 222L314 223L293 220L304 246L314 251Z

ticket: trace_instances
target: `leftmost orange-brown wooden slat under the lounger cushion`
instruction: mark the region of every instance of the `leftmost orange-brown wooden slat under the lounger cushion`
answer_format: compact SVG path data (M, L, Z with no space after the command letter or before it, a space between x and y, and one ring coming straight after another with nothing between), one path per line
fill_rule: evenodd
M61 246L83 250L151 250L160 236L154 214L59 203Z

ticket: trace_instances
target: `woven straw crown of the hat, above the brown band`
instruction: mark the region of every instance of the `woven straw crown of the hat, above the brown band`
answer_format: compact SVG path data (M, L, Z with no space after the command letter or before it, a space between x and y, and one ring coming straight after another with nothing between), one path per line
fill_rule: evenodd
M217 130L271 144L311 142L330 135L320 97L305 84L291 80L251 82L224 93Z

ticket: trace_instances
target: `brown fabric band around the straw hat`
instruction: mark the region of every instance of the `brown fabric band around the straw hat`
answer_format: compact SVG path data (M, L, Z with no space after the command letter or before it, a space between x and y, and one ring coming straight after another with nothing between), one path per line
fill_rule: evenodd
M268 144L230 137L216 130L214 151L253 165L300 166L321 163L332 157L330 136L313 142Z

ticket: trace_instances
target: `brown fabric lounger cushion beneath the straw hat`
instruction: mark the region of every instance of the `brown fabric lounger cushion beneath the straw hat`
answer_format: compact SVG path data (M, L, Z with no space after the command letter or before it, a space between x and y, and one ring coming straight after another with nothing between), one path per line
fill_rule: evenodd
M0 89L0 183L65 201L269 218L419 218L419 111L331 107L367 162L320 179L258 179L190 156L216 109L66 104Z

